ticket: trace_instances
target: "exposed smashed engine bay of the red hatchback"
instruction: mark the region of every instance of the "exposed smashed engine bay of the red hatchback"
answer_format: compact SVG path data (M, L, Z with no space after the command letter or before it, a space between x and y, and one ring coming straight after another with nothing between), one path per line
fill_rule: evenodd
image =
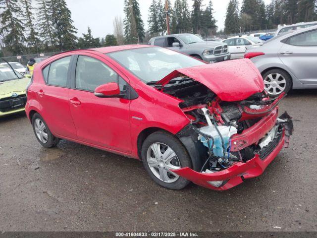
M242 101L226 102L189 77L174 80L161 90L182 100L179 106L191 123L177 136L181 140L190 137L200 151L197 172L223 171L256 155L264 160L281 141L283 133L288 145L293 131L291 118L286 112L277 118L277 105L285 94L270 98L263 91ZM220 187L227 181L208 182Z

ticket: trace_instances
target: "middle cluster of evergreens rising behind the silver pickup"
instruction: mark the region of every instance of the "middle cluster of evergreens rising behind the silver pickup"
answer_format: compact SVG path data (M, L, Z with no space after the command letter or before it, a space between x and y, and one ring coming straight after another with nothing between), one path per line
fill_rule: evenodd
M153 36L166 34L165 3L165 0L151 1L148 16L149 28L145 31L138 0L124 0L125 43L143 42ZM203 0L191 0L191 3L190 6L187 0L175 0L172 5L170 0L167 0L171 34L193 32L208 36L216 32L211 0L207 6L203 4Z

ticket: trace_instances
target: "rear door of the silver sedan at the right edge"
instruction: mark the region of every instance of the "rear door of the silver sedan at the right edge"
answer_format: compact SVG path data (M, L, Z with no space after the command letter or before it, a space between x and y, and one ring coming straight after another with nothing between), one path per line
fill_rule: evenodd
M317 29L289 37L279 58L304 84L317 84Z

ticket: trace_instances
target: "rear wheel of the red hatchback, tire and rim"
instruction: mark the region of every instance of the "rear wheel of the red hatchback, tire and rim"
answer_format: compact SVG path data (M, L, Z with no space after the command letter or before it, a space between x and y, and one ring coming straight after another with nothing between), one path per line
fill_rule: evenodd
M35 136L42 146L45 148L51 148L58 144L59 139L52 134L40 114L36 113L33 115L32 126Z

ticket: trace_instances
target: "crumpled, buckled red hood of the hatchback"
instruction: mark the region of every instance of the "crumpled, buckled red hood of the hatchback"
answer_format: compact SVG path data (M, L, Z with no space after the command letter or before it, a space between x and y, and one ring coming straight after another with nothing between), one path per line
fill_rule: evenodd
M204 84L222 101L227 102L245 100L264 90L262 75L249 59L176 69L159 80L156 85L164 86L180 75L186 75Z

